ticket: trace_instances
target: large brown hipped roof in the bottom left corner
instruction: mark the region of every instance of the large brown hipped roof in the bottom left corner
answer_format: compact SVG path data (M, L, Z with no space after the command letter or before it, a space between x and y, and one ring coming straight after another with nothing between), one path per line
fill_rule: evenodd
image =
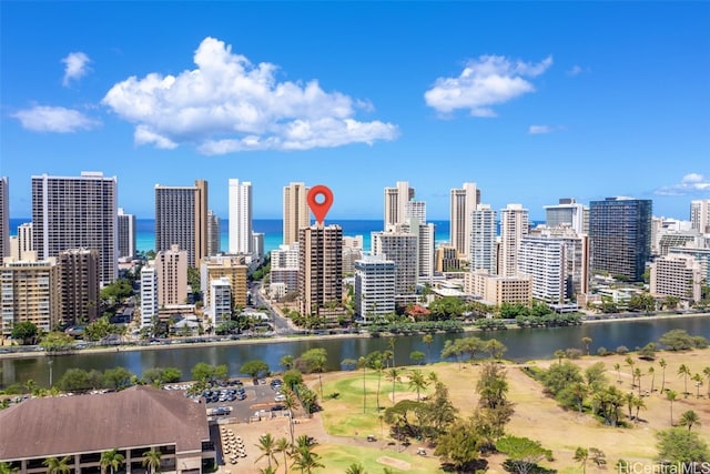
M150 386L32 399L0 411L0 461L172 443L178 453L199 452L209 437L204 405Z

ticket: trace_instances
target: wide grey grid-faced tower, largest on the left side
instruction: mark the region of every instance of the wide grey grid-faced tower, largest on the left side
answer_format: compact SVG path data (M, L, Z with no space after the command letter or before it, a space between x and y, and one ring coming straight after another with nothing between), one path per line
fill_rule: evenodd
M118 181L100 172L32 177L32 248L38 259L97 249L101 284L118 278Z

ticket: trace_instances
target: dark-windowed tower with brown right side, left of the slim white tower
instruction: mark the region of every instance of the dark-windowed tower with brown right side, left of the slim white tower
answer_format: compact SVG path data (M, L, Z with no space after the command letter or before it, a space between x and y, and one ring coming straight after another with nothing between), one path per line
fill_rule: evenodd
M193 186L155 184L155 251L180 245L187 265L195 268L207 254L207 182Z

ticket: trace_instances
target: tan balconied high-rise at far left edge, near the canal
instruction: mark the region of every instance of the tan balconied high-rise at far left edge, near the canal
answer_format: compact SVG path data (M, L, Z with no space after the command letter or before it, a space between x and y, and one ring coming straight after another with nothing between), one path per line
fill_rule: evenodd
M14 324L30 321L49 332L60 322L60 288L57 259L38 261L36 252L26 260L6 258L0 266L0 317L2 335Z

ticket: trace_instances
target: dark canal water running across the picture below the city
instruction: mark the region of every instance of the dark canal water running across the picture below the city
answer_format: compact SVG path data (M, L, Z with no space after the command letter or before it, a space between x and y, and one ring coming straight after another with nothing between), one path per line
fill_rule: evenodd
M657 342L666 332L682 329L692 335L702 335L710 340L710 316L672 317L661 320L632 320L598 322L571 327L548 329L516 329L496 332L476 332L460 334L435 334L430 347L423 342L422 335L397 336L395 340L395 362L397 365L412 364L409 354L422 351L429 354L430 362L440 361L440 351L447 340L476 335L480 339L497 339L507 347L504 357L525 362L532 359L550 359L554 352L568 347L584 350L582 337L590 337L592 354L599 347L613 351L620 345L635 350L648 342ZM71 355L36 357L0 359L2 372L1 385L24 383L34 380L40 386L49 386L50 360L52 379L57 382L62 374L72 367L83 370L95 369L104 371L115 366L123 366L136 375L152 367L174 366L182 371L184 379L190 379L190 372L197 362L211 365L227 364L230 376L241 376L240 367L248 360L263 360L272 371L281 371L278 361L284 355L297 357L313 347L324 347L327 351L327 370L339 370L345 359L357 359L373 351L389 349L388 337L338 337L318 340L273 341L261 343L242 342L239 344L216 343L213 346L179 346L155 347L145 351L121 351L104 353L77 353Z

